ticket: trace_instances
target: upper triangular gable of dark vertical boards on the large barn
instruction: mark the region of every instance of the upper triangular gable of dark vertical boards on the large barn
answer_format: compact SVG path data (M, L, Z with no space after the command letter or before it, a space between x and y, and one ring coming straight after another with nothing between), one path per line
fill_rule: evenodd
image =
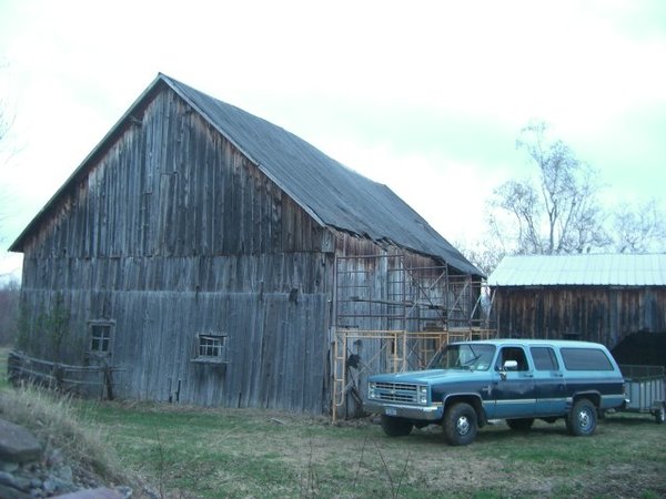
M173 257L321 251L325 231L173 92L80 175L24 254Z

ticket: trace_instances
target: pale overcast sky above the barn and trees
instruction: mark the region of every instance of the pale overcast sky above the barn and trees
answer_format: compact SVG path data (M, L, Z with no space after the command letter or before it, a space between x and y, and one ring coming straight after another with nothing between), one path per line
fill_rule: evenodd
M452 242L529 172L531 119L602 172L605 202L664 198L662 0L0 0L0 274L158 72L387 184Z

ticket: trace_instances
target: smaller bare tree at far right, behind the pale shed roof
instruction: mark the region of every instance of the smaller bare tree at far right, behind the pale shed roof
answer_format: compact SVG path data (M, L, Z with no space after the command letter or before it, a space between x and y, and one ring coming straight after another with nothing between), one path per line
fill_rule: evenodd
M632 206L623 203L612 216L614 246L619 253L666 251L666 215L657 200Z

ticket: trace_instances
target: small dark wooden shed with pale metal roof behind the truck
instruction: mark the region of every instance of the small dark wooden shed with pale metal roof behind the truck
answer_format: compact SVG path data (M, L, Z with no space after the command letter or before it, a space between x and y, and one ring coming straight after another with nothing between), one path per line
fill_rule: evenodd
M501 336L614 348L634 333L666 333L664 254L507 256L488 285Z

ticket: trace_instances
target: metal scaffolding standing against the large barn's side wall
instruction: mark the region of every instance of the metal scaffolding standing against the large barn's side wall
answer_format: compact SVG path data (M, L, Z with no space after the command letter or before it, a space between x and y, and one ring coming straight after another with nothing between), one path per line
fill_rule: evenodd
M423 369L453 340L495 336L483 283L405 254L336 258L333 420L375 373Z

